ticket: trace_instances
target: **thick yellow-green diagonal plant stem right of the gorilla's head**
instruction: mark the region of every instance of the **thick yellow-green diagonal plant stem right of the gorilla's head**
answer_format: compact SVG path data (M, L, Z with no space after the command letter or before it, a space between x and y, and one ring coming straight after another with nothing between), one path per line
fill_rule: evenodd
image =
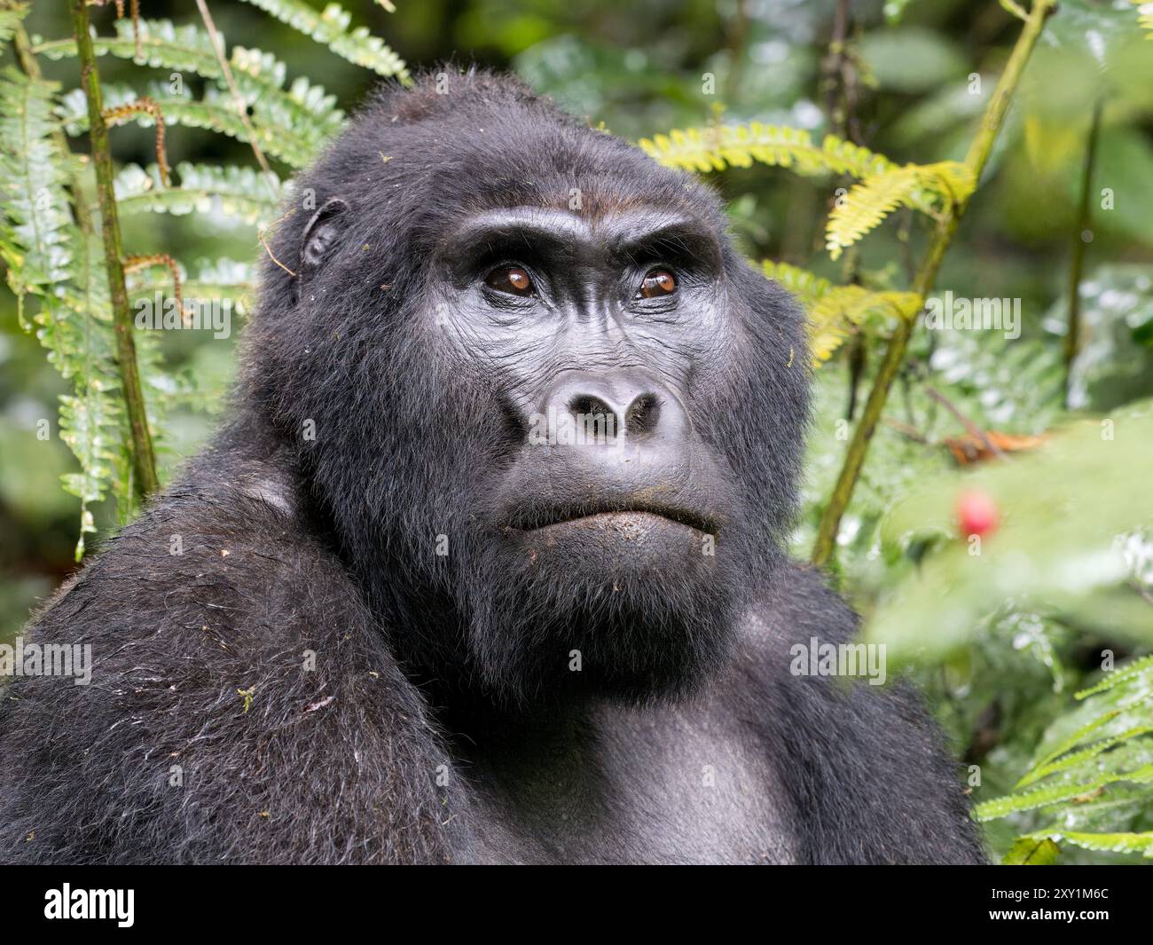
M1009 103L1020 82L1025 63L1033 52L1033 46L1041 35L1045 20L1053 12L1055 2L1056 0L1034 0L1028 20L1025 21L1025 27L1020 36L1017 37L1017 43L1009 57L1009 61L1005 63L1004 72L1001 74L1001 80L993 92L993 98L985 110L981 126L969 148L969 153L965 156L965 164L973 172L973 179L977 181L981 179L981 172L985 170L985 164L989 159L989 152L993 150L993 143L996 141L997 133L1004 122L1005 113L1009 111ZM912 291L922 299L933 290L933 283L936 280L941 261L944 258L945 250L949 248L949 243L957 232L957 225L960 223L967 204L969 198L966 197L963 201L958 201L951 208L947 208L933 232L925 258L917 270L917 276L912 285ZM900 365L905 358L905 350L909 347L909 339L912 337L915 323L915 318L902 320L897 330L889 339L889 346L884 352L884 360L877 369L876 380L873 382L873 389L869 391L868 400L865 404L865 412L861 414L860 422L853 430L853 438L845 453L845 460L841 467L837 485L834 486L829 504L826 505L824 513L821 516L821 525L816 533L816 543L813 546L812 560L814 564L824 564L836 546L837 532L841 528L841 518L849 507L849 501L852 498L857 479L860 477L861 467L865 465L865 455L868 452L873 434L876 432L876 426L881 420L884 403L889 397L889 389L892 387L894 378L900 370Z

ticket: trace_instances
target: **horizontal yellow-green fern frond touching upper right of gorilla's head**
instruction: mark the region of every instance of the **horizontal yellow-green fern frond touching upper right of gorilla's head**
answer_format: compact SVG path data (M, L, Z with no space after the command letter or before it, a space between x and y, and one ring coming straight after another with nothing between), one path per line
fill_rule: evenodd
M658 164L683 171L723 171L751 167L754 162L789 167L799 174L849 174L854 178L883 173L894 165L883 155L828 135L819 148L812 135L783 125L716 126L675 129L668 135L642 138L640 148Z

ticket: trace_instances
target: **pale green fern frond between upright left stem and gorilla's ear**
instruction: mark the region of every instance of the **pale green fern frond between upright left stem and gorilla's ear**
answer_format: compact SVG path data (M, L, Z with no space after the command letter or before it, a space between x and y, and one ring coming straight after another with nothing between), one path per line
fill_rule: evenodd
M259 223L276 217L281 198L280 180L251 167L182 162L179 183L164 187L156 165L148 170L126 164L115 179L116 204L122 212L151 211L181 216L198 211Z

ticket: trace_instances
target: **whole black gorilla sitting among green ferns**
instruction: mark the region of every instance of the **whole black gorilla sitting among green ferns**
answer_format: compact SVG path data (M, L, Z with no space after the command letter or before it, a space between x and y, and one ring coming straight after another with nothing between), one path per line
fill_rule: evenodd
M474 70L296 182L231 413L25 631L0 861L980 863L784 550L804 318L688 175ZM804 668L804 667L801 667Z

